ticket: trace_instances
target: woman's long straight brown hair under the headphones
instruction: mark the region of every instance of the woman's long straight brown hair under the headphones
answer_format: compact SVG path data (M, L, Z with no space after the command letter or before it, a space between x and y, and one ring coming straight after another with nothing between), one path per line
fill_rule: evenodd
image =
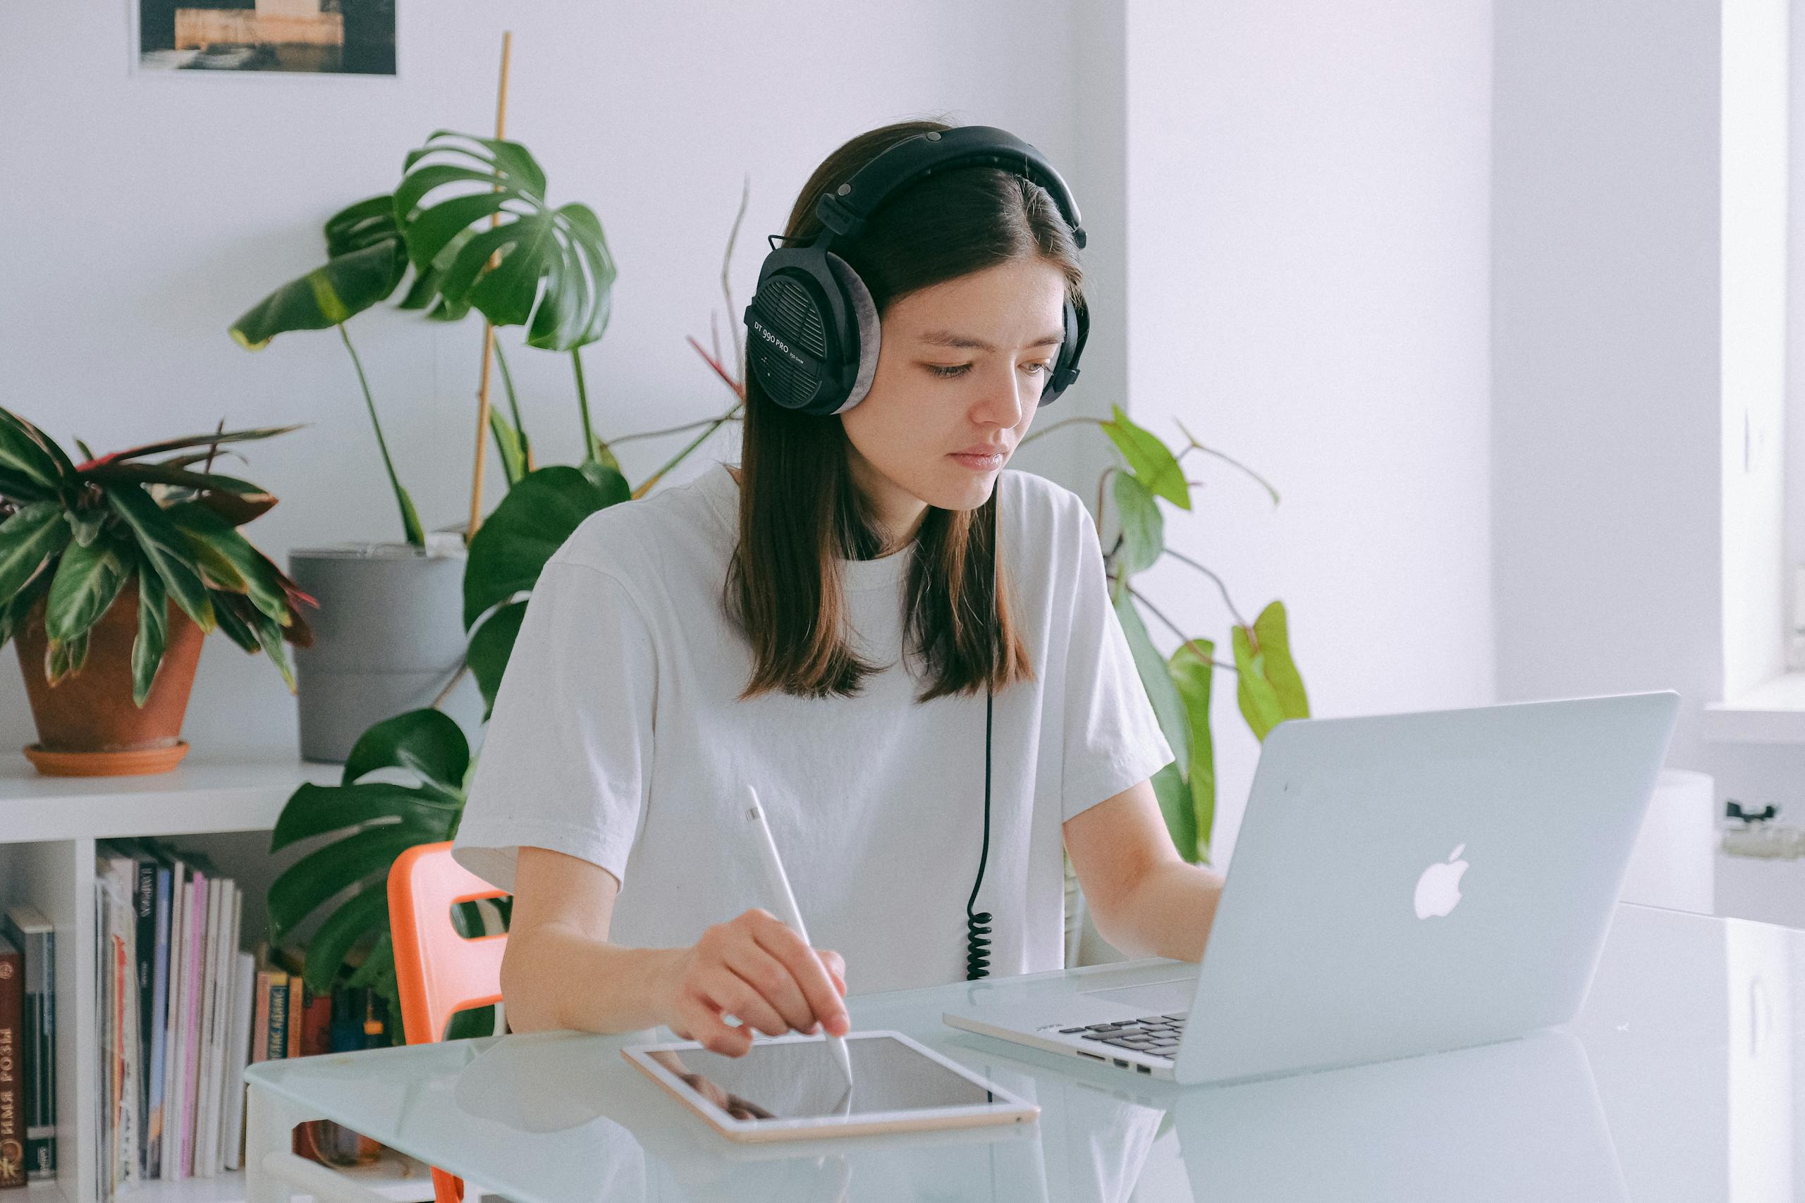
M901 121L848 141L816 168L791 209L785 242L809 240L821 195L902 139L948 130ZM1083 303L1078 247L1047 189L1000 168L958 168L904 186L857 238L834 254L865 280L879 316L921 289L998 263L1040 256L1058 265ZM845 638L838 559L870 559L883 537L848 465L845 426L771 400L745 381L740 456L740 543L724 602L753 644L753 676L740 698L782 691L809 698L852 696L879 666ZM1027 647L1009 613L996 541L996 489L973 510L928 507L915 536L904 601L904 646L942 694L1002 689L1032 678Z

